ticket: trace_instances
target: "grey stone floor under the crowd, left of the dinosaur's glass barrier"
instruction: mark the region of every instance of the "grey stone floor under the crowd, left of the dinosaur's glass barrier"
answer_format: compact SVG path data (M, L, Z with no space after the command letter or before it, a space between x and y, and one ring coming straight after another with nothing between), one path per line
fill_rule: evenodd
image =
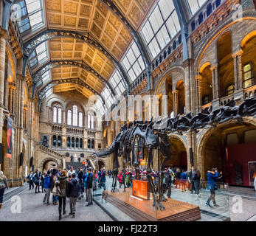
M10 190L9 190L10 191ZM18 197L21 199L21 213L13 213L17 200L4 202L0 210L0 221L58 221L58 206L52 205L52 195L49 206L44 205L43 193L35 194L34 190L26 188ZM86 201L77 201L77 214L73 219L69 215L69 200L66 201L67 214L61 221L113 221L97 204L85 206Z

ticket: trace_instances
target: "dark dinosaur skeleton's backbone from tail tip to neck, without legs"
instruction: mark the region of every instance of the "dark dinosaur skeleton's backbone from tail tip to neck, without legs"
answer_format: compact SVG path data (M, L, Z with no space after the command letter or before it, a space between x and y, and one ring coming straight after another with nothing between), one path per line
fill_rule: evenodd
M155 133L175 133L182 134L186 131L198 131L200 128L204 128L207 125L218 125L231 119L238 119L241 121L242 117L255 116L256 115L256 94L249 99L244 100L241 105L236 105L235 100L231 100L229 103L215 111L210 111L210 108L205 108L195 116L190 112L184 116L176 116L174 118L167 117L165 119L156 119L151 122L130 122L128 125L122 126L120 133L114 139L111 146L101 151L100 153L94 153L96 156L108 156L114 153L117 145L119 146L119 156L123 152L131 153L132 141L134 140L134 134L138 130L141 132L148 130L148 137L152 137ZM136 131L136 132L135 132ZM159 131L159 132L156 132ZM139 135L140 136L140 135ZM160 143L160 142L158 142ZM152 145L146 144L146 145ZM156 145L156 144L154 144Z

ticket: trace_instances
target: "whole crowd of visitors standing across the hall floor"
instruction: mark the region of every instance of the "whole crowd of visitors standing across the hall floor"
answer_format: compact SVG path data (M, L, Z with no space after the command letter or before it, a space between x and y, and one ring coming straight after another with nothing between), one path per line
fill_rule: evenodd
M148 181L148 173L145 168L139 170L138 174L140 180ZM191 194L195 192L200 198L201 173L199 170L195 170L194 167L191 167L188 171L180 167L165 167L161 175L163 189L164 192L167 192L167 198L171 198L173 187L180 189L181 192L187 192L187 190L190 190ZM50 168L42 173L39 170L35 170L34 173L30 172L27 176L27 183L30 190L35 188L35 193L44 193L44 204L49 205L49 198L52 193L52 204L58 205L59 220L61 220L62 216L66 214L66 198L69 198L69 215L75 218L77 200L84 198L84 193L86 195L86 206L90 206L93 204L92 191L97 190L97 188L106 190L105 176L105 167L100 170L92 170L91 167L83 165L83 168L79 168L76 171L72 166L69 166L63 170ZM114 176L114 171L108 170L108 176ZM152 171L151 177L156 190L158 190L159 172ZM136 179L135 170L126 168L120 171L117 175L119 188L132 188L134 179ZM224 174L221 171L218 172L217 168L212 168L207 172L207 189L210 190L210 197L206 202L207 206L211 206L211 201L214 206L218 206L216 204L215 191L223 183ZM254 184L256 191L256 178ZM0 209L6 189L8 189L7 178L0 171Z

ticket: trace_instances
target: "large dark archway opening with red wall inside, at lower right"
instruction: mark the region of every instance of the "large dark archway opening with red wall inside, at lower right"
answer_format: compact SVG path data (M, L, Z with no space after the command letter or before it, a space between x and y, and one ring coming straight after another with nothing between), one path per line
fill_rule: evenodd
M217 167L224 182L252 186L256 175L256 127L246 122L216 128L204 145L204 174Z

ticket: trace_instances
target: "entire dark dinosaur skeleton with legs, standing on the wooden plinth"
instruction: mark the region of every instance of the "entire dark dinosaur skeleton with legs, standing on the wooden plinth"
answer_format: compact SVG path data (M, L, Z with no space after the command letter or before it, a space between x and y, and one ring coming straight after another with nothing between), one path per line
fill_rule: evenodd
M148 183L153 194L153 206L156 210L164 210L165 206L161 204L161 201L167 201L163 195L162 182L164 178L164 168L168 160L170 160L170 141L168 140L168 134L178 132L182 133L187 131L196 131L204 128L207 125L216 126L228 120L236 119L238 122L243 121L243 117L256 115L256 95L243 101L241 105L236 105L235 100L230 101L221 108L215 111L210 111L210 108L206 108L194 116L192 113L186 114L183 117L178 115L177 117L166 119L156 119L151 122L130 122L122 126L120 133L114 139L114 142L100 153L94 153L97 157L105 157L114 154L114 176L112 182L112 192L117 190L117 174L120 167L118 157L123 157L123 162L131 164L135 167L136 178L139 178L139 162L138 152L139 149L144 155L145 149L148 150L148 166L147 166L147 178ZM138 148L138 149L136 149ZM159 197L157 198L156 190L153 185L151 177L153 167L153 150L159 149L164 161L160 167L159 173ZM132 154L132 160L131 160Z

